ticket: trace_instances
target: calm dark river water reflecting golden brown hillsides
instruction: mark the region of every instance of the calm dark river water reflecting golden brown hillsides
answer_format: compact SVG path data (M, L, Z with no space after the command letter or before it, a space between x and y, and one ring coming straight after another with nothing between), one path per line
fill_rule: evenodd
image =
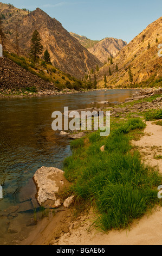
M70 95L0 100L0 245L25 239L38 208L32 180L42 166L62 168L70 142L51 129L54 111L102 107L101 101L122 102L133 90L100 90ZM91 103L94 102L92 105ZM107 105L106 105L107 106ZM18 205L18 210L13 206Z

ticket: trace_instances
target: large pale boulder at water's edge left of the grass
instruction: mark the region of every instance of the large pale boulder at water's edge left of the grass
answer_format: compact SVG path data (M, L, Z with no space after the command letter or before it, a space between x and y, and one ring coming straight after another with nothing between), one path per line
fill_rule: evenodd
M38 190L38 203L45 208L59 208L62 204L59 194L65 186L69 185L64 178L63 170L43 166L36 171L34 181Z

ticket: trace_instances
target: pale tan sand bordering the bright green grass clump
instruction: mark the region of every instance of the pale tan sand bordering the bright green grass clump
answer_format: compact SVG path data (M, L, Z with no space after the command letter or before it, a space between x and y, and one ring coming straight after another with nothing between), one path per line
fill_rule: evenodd
M162 160L154 159L161 155L162 127L147 122L145 136L140 141L133 142L141 152L145 162L159 167L162 173ZM161 184L162 185L162 184ZM158 191L157 191L158 193ZM81 216L79 220L69 223L69 231L59 239L53 239L53 245L162 245L162 208L154 210L149 216L145 215L135 221L130 230L112 230L108 234L91 228L94 213Z

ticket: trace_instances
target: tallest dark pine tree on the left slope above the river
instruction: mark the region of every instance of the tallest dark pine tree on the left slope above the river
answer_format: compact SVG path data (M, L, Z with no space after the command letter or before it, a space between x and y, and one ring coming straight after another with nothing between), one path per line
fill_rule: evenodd
M36 58L39 57L39 55L42 54L42 52L43 52L43 45L41 44L41 36L37 32L37 30L35 30L31 38L31 48L30 48L31 56L34 57L34 62L36 62Z

